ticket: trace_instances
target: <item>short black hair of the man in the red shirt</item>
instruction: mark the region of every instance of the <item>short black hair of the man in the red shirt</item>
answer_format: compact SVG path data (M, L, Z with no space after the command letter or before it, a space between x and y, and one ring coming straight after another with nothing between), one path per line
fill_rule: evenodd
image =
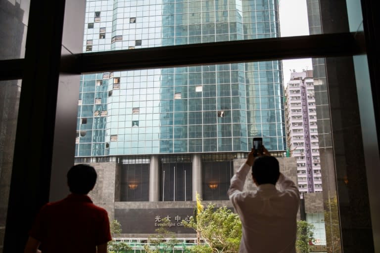
M67 172L70 192L88 194L95 186L96 177L96 171L92 166L79 164L71 167Z

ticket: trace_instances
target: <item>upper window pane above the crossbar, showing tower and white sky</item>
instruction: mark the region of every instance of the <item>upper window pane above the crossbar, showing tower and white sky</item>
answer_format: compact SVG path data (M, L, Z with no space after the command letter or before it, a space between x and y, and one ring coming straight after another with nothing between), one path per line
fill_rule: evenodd
M307 24L300 0L87 0L83 51L308 35Z

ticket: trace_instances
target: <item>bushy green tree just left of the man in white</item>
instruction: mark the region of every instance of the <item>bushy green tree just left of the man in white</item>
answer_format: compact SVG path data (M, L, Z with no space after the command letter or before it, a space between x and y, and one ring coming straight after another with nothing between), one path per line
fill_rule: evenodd
M238 214L227 207L215 209L215 205L210 204L203 211L197 212L196 219L191 216L189 222L183 220L182 223L185 227L194 229L212 253L238 252L241 222Z

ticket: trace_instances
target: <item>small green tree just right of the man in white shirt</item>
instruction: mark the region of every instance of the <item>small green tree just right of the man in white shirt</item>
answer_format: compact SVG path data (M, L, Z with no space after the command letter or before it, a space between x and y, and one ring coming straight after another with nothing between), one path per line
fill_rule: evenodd
M314 242L313 229L315 229L313 224L304 220L297 221L297 240L295 241L297 253L310 252L310 246Z

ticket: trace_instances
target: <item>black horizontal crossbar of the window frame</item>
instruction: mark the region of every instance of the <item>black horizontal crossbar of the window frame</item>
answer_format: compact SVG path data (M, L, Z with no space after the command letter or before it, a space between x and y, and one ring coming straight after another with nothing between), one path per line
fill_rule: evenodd
M69 74L364 54L364 34L338 33L72 54ZM24 59L0 61L0 81L22 78Z

